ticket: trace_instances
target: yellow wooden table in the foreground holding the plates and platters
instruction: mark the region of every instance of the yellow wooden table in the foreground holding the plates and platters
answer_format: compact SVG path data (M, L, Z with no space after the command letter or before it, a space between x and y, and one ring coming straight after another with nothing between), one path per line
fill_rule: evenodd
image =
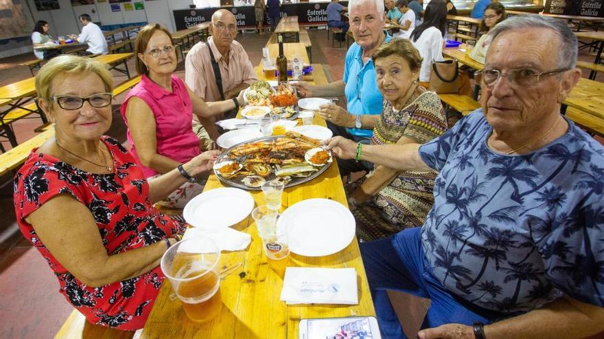
M315 84L327 84L321 64L313 64ZM262 71L259 79L264 79ZM325 126L317 114L316 125ZM210 175L204 192L223 186L216 175ZM260 191L251 191L257 205L264 204ZM338 166L334 162L327 171L305 184L286 188L283 191L283 208L310 198L326 198L347 205ZM196 324L187 318L181 301L170 300L172 286L167 279L157 296L151 314L140 338L298 338L299 322L303 318L328 318L341 316L374 316L373 301L367 284L358 242L353 240L348 247L325 257L303 257L290 254L288 266L356 268L358 277L358 305L286 305L279 300L283 279L267 264L262 251L262 242L251 216L235 225L251 235L252 242L245 251L223 252L220 265L232 266L241 263L235 273L220 281L222 310L212 321ZM244 273L244 275L243 275Z

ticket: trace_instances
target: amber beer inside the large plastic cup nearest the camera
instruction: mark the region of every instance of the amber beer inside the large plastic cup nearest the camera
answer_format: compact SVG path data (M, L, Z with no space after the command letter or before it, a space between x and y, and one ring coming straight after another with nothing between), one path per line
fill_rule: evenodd
M196 323L205 323L220 313L220 277L213 271L196 271L187 277L202 275L198 279L178 284L176 294L183 302L185 313ZM183 300L184 299L184 300Z

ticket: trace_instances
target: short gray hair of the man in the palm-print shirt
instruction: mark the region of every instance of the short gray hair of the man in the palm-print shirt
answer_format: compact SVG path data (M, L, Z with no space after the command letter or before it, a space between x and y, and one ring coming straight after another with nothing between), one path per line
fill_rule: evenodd
M572 30L568 28L566 22L557 18L550 18L548 16L537 14L515 15L511 18L505 19L493 27L493 29L491 29L489 32L489 36L491 37L491 41L495 41L495 38L503 32L511 31L513 29L527 29L532 27L551 29L560 37L558 67L574 68L577 66L577 37L574 36Z

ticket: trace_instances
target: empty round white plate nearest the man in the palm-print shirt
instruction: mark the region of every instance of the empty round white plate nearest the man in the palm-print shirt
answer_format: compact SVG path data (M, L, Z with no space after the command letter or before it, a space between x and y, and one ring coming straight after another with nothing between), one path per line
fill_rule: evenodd
M290 227L290 251L307 257L342 251L354 239L356 231L352 213L329 199L294 203L279 216L277 227Z

